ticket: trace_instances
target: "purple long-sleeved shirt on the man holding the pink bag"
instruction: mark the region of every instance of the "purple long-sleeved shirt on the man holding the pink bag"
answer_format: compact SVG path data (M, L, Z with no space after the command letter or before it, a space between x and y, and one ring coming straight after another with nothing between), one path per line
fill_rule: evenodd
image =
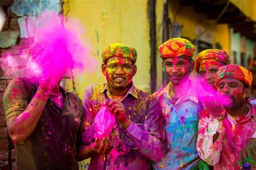
M92 143L94 117L108 100L112 95L106 83L93 84L85 90L85 145ZM105 156L93 155L89 169L147 169L151 160L163 155L164 124L157 99L132 85L120 102L132 122L127 129L116 122L112 131L114 147Z

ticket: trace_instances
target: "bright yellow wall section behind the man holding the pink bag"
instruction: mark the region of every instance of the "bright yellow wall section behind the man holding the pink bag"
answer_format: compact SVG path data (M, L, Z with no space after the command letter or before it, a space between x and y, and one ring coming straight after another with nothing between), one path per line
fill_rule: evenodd
M102 64L103 49L113 42L136 48L137 74L133 82L139 89L150 91L150 34L147 1L140 0L64 0L64 15L74 17L86 27L84 39L91 44L91 56ZM96 73L75 77L79 97L92 83L106 82L100 67ZM68 84L67 86L70 86Z

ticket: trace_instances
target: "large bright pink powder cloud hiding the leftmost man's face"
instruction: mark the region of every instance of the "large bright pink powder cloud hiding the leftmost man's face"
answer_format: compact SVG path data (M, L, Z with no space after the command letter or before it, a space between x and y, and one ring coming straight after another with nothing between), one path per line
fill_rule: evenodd
M63 15L56 12L45 11L37 17L35 42L42 50L28 59L14 58L6 55L2 58L2 68L5 73L15 74L17 63L26 66L23 76L54 77L61 79L67 70L73 73L91 72L98 65L96 59L89 57L90 45L83 37L85 29L76 19L69 18L65 21ZM25 48L25 47L20 47ZM26 63L28 62L28 63ZM10 68L13 68L10 73ZM19 68L20 69L20 68ZM19 76L19 75L17 75Z

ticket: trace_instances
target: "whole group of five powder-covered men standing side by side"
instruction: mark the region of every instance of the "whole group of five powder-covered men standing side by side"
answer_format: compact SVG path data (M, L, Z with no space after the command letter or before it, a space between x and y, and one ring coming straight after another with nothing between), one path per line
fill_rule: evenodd
M102 52L106 83L87 87L83 102L59 85L62 76L16 77L3 103L17 168L78 169L87 158L89 169L255 168L252 73L221 49L199 53L196 62L193 55L183 38L159 46L169 83L153 95L132 81L136 49L117 42ZM99 139L93 123L104 104L116 125Z

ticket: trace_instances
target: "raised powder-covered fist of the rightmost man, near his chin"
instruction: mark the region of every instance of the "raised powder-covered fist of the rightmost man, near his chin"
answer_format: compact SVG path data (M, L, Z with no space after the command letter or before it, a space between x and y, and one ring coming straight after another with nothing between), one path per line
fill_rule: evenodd
M221 117L223 112L223 105L214 97L205 98L204 109L213 117Z

